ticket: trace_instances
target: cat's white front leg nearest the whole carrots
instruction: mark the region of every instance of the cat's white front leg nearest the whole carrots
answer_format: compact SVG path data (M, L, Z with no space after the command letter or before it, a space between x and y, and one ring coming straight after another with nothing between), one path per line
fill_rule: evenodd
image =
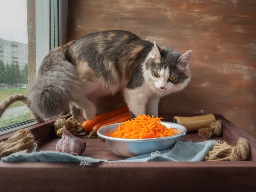
M145 94L137 89L132 90L128 88L124 88L123 94L132 118L145 114L148 99Z

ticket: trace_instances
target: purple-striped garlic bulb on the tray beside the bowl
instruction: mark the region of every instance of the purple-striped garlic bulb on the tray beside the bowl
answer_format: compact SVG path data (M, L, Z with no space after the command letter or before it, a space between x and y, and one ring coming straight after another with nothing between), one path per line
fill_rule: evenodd
M56 151L68 154L78 154L81 155L85 148L86 143L79 137L72 135L66 128L61 128L57 131L57 134L61 134L61 139L56 145Z

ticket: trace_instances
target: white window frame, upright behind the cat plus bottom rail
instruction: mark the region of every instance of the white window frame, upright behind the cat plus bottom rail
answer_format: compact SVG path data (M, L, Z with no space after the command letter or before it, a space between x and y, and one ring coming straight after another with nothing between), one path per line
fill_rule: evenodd
M36 75L38 76L39 67L47 55L50 49L50 20L49 3L54 1L58 3L58 35L59 46L67 43L67 9L68 0L35 0L35 42L36 42ZM31 119L29 119L31 120ZM29 121L27 120L27 121ZM19 123L8 125L4 131L0 131L0 135L8 134L9 132L16 131L21 128L26 128L31 125L35 125L36 122L29 121L28 123L20 122L23 125L17 125Z

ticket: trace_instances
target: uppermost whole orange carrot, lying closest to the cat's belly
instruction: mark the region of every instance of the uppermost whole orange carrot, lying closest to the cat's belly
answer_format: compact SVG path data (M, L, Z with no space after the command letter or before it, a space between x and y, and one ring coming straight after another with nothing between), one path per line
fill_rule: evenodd
M119 109L115 109L113 111L108 111L107 113L102 113L94 117L93 120L86 120L82 123L82 127L84 128L84 132L86 134L89 134L95 125L98 123L105 121L107 119L110 119L116 115L122 114L129 111L128 107L122 107Z

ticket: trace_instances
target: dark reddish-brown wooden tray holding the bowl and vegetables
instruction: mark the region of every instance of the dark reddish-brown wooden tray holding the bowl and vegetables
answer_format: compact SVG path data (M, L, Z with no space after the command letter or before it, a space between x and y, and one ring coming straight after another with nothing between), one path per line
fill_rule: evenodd
M177 114L161 114L172 121ZM179 114L179 116L181 116ZM192 116L192 115L182 115ZM68 117L62 116L63 117ZM104 162L97 166L79 166L79 163L5 163L0 162L0 191L102 191L138 192L154 191L256 191L256 139L221 115L222 137L213 140L236 144L240 136L250 142L251 154L247 161L239 162ZM58 139L53 132L56 119L29 127L42 143L41 150L55 150ZM12 133L0 137L10 137ZM104 141L86 139L83 155L108 160L120 160L108 150ZM182 140L204 141L198 133L187 133Z

